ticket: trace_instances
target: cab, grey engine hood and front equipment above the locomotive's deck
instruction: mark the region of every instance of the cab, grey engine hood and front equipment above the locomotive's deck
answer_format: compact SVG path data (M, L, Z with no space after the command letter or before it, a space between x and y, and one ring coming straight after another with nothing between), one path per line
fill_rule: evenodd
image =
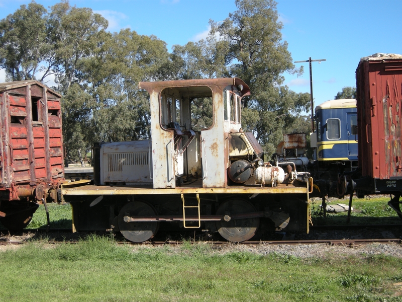
M240 79L141 82L150 94L152 140L100 147L100 184L225 188L255 184L263 150L241 128ZM135 173L133 173L135 172Z

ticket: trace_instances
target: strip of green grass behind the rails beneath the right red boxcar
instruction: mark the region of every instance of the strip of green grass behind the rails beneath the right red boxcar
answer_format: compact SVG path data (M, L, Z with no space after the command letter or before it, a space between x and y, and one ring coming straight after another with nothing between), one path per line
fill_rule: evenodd
M353 211L351 212L350 224L401 224L402 220L396 212L387 204L389 197L376 197L366 199L352 200ZM348 212L330 213L327 212L327 218L323 217L321 212L322 201L315 199L312 204L312 220L314 224L345 224ZM349 204L349 197L345 199L336 199L327 204L344 203Z

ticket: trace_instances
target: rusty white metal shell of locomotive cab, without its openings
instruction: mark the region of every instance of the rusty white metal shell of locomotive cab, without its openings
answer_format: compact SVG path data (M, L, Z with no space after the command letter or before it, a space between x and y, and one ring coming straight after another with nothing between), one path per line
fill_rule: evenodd
M165 82L140 82L140 89L150 94L151 131L152 131L152 174L153 188L175 188L176 177L186 170L202 172L204 188L224 188L227 186L228 131L239 131L240 106L235 106L232 113L235 120L224 120L224 92L236 95L236 102L250 94L249 87L240 79L203 79ZM241 89L240 89L241 88ZM209 98L213 105L212 124L198 131L185 153L186 163L180 153L181 145L177 142L182 137L178 133L191 129L190 106L193 98ZM176 105L180 104L177 109ZM179 119L176 110L180 110ZM171 124L179 129L172 129ZM180 130L179 132L177 130ZM189 151L191 153L189 154ZM188 169L190 168L190 169Z

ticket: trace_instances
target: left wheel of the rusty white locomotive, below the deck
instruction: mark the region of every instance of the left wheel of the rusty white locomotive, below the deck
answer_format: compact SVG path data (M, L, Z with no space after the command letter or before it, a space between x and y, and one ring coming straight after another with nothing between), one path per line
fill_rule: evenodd
M155 216L155 209L143 201L133 201L123 206L119 213L118 224L123 236L132 242L144 242L154 237L159 229L158 221L125 222L124 216Z

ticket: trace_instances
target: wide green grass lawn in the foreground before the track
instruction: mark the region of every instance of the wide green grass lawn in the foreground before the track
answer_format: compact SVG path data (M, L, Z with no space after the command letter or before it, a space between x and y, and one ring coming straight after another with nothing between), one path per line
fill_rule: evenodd
M301 259L91 236L0 252L2 301L402 301L402 259Z

